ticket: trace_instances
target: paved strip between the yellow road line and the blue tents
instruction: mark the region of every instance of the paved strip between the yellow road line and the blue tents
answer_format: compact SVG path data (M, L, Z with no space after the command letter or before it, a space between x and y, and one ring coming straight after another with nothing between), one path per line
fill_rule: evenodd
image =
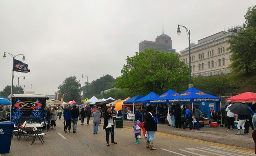
M124 120L124 126L132 128L133 121ZM252 139L253 130L249 130L249 134L236 135L237 129L226 132L226 127L202 127L201 130L182 130L167 126L167 124L157 124L157 132L173 134L182 137L189 137L192 139L200 139L213 143L221 143L224 145L231 145L237 147L248 148L254 150L254 141ZM141 131L142 132L142 131Z

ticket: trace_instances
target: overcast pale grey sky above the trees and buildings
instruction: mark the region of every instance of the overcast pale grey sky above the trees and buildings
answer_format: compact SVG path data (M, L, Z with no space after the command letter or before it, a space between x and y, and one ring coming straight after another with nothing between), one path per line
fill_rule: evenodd
M50 94L69 76L88 81L103 74L121 76L126 57L138 52L139 42L155 41L164 33L176 52L191 42L236 24L242 25L255 0L1 0L0 91L11 85L12 57L25 54L30 73L14 72L24 90ZM22 60L22 56L17 57ZM17 85L17 78L13 85ZM91 98L91 97L88 97Z

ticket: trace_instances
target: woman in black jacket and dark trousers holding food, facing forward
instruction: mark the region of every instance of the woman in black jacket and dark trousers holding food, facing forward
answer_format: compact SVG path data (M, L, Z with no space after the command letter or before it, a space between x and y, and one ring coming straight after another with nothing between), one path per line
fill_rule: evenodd
M115 138L115 132L114 132L114 118L113 115L110 111L110 108L106 108L105 112L103 113L103 118L104 118L104 125L103 125L103 130L106 131L106 145L109 146L109 132L111 132L111 143L117 144L114 141ZM108 123L111 123L111 128L106 128L108 126Z

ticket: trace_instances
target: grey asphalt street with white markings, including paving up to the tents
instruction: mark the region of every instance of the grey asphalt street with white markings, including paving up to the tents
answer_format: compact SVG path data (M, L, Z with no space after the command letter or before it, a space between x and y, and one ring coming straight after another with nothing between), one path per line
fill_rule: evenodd
M57 129L51 130L44 136L42 145L37 139L31 145L32 138L18 141L13 137L10 153L2 156L254 156L254 141L250 134L237 136L236 130L226 132L225 127L202 128L189 131L176 129L167 124L158 124L158 131L154 137L156 151L145 147L146 139L142 138L139 144L134 143L132 121L124 121L124 128L115 128L117 145L106 146L103 124L99 126L98 134L93 134L93 119L89 126L81 125L78 121L76 133L63 132L63 119L57 120ZM86 122L85 122L86 123ZM1 154L0 154L1 156Z

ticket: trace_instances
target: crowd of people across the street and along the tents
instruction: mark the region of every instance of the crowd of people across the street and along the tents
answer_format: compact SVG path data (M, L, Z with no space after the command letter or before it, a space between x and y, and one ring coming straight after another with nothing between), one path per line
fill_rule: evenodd
M222 119L225 123L225 127L227 127L226 131L228 132L230 128L234 130L234 120L235 115L229 110L229 107L232 104L226 104L224 108L222 108ZM248 134L249 133L249 126L252 127L252 130L256 127L256 116L254 115L254 112L256 111L256 106L252 107L252 104L247 104L248 108L251 110L251 113L248 115L238 115L238 124L237 124L237 135L239 134ZM135 143L139 144L139 139L141 139L141 133L143 132L143 137L147 140L146 147L150 148L150 150L156 150L156 148L153 147L154 142L154 134L157 131L157 124L154 121L154 117L158 117L158 119L161 116L163 116L163 113L166 112L167 107L166 106L155 106L148 105L145 108L145 112L143 112L143 106L139 106L136 108L137 112L135 113L135 119L134 119L134 126L133 132L135 137ZM163 109L163 113L161 111ZM194 113L192 113L192 109ZM79 111L80 110L80 111ZM84 125L84 119L87 118L87 125L89 125L90 117L93 117L93 134L98 134L98 126L101 123L101 118L104 118L104 125L103 129L106 132L106 145L109 146L109 135L111 135L111 143L117 144L117 142L114 141L115 139L115 119L117 116L126 116L126 114L131 111L132 108L130 106L126 106L124 111L115 111L115 107L112 105L109 107L102 108L101 106L94 106L93 108L90 108L90 106L87 106L85 108L79 108L78 106L66 106L64 109L62 106L59 108L53 107L47 109L47 128L50 128L50 125L52 126L52 130L56 129L56 120L58 119L57 115L59 116L59 119L61 119L62 115L65 119L65 133L70 133L71 125L73 127L73 133L76 133L76 127L78 120L81 120L81 125ZM224 112L225 111L225 112ZM161 112L161 113L159 113ZM167 111L168 112L168 111ZM253 117L254 115L254 117ZM167 115L167 121L168 126L173 126L175 128L182 128L183 130L200 130L201 124L200 121L202 120L209 120L209 121L220 121L220 115L216 112L211 113L211 118L207 115L205 112L202 114L202 111L200 111L200 108L198 105L195 105L194 108L192 108L190 105L182 105L180 104L174 104L171 106L169 110L169 115ZM166 116L165 116L166 117ZM166 118L163 118L165 122ZM169 120L170 119L170 120ZM193 124L194 122L194 124ZM183 125L183 127L182 127ZM241 126L241 128L240 128ZM142 130L142 132L141 132ZM256 132L253 132L252 134L253 139L255 141L255 149L256 149Z

